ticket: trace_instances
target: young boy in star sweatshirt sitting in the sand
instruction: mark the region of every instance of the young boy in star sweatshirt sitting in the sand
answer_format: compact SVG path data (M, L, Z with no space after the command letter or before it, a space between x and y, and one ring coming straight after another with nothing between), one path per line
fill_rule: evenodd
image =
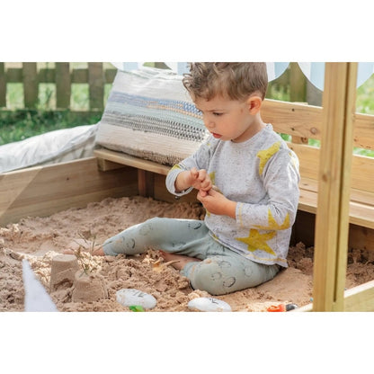
M204 221L152 218L106 240L96 254L151 246L178 260L193 289L222 295L257 286L287 267L298 209L298 158L265 124L265 63L192 63L183 85L210 136L166 177L176 196L198 190Z

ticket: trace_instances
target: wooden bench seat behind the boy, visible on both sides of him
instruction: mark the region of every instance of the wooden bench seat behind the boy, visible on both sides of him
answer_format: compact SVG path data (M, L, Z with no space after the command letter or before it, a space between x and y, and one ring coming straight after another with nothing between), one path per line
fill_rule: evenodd
M98 159L102 171L121 167L122 165L138 168L138 191L140 195L152 196L147 193L152 183L147 172L166 175L170 166L160 165L153 161L147 161L138 157L129 156L109 149L96 149L94 156ZM318 181L312 178L301 177L300 198L298 209L316 214ZM374 193L352 189L350 201L350 223L374 229Z

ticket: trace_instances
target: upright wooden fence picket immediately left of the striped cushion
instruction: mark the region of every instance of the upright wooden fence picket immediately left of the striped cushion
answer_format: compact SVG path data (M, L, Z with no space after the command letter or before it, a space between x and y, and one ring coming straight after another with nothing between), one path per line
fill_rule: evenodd
M104 76L102 62L88 63L88 85L90 93L90 110L103 110Z

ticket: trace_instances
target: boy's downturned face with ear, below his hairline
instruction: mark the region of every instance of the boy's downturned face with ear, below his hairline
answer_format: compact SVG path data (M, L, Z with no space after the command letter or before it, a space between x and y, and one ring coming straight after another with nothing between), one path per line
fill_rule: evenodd
M259 108L254 108L252 99L258 99L261 106L261 99L257 96L250 97L245 102L221 96L209 101L197 98L195 105L202 112L204 125L214 138L239 143L252 138L264 126L260 117L255 115Z

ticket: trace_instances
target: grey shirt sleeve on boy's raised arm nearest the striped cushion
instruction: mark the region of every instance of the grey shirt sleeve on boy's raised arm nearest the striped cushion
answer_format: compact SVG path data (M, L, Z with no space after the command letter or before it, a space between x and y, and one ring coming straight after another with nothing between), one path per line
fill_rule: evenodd
M172 167L170 172L166 175L166 188L170 193L173 193L175 196L183 196L193 190L193 187L190 187L184 191L175 191L175 180L178 174L186 170L191 170L192 167L196 167L197 170L208 170L209 158L211 153L210 140L211 137L205 140L192 156L185 158L179 164L176 164Z

